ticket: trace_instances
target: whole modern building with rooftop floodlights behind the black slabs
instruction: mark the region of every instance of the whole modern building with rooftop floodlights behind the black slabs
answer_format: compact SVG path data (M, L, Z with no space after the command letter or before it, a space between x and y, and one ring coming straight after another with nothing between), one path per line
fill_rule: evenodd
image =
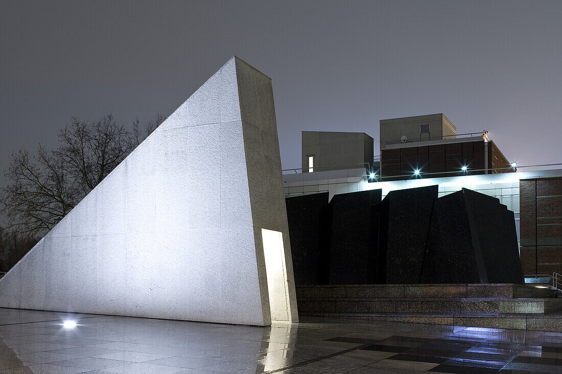
M562 273L560 168L517 170L495 143L483 136L487 134L456 134L456 127L442 113L382 120L380 125L380 168L375 161L371 169L360 165L330 168L323 163L320 171L305 170L306 165L302 173L285 170L285 197L328 192L331 200L336 194L382 189L384 198L392 190L428 185L438 185L438 197L443 197L462 188L471 189L497 198L514 212L524 274ZM321 133L314 134L322 138ZM330 142L338 143L338 134L349 133L326 134ZM400 141L402 136L404 142ZM303 142L303 160L314 154L310 149L310 144ZM365 165L368 158L365 156ZM337 165L345 163L343 159L336 153L331 158Z

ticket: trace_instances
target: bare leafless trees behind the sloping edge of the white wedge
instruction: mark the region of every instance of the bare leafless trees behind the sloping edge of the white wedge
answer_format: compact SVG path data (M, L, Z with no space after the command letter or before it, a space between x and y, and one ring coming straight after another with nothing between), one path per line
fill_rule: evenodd
M31 236L51 230L163 120L158 113L142 131L138 120L131 130L111 114L93 122L72 118L58 133L57 149L13 154L0 196L6 229Z

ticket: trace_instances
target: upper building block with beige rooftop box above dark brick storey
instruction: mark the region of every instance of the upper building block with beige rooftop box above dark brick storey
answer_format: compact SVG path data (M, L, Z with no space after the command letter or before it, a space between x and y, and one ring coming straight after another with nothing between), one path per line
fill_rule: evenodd
M477 135L477 136L474 136ZM457 134L443 113L380 121L383 180L511 172L487 131Z

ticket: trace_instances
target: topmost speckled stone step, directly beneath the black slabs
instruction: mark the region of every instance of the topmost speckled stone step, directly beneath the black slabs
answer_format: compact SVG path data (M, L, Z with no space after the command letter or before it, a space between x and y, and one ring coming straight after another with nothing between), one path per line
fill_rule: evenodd
M555 298L555 290L524 284L300 285L299 298Z

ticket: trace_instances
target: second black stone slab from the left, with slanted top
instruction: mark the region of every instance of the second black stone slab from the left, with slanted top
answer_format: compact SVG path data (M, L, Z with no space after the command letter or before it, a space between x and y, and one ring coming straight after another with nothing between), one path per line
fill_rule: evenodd
M334 195L330 211L330 284L373 284L381 190Z

